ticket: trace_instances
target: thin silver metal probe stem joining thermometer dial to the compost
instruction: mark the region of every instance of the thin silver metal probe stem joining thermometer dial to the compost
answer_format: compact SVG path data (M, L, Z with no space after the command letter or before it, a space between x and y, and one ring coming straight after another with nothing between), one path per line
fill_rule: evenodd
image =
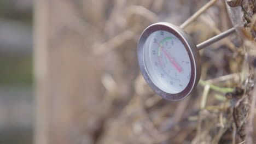
M200 51L200 50L204 49L205 47L215 43L216 41L219 41L225 37L228 37L230 34L234 33L235 31L236 31L236 29L233 27L233 28L230 28L228 31L225 31L223 33L220 33L220 34L212 37L211 39L203 41L201 44L196 45L197 50Z

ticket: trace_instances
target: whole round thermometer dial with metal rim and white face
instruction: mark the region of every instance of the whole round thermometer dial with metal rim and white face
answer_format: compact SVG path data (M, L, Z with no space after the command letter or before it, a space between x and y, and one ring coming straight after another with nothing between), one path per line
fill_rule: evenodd
M138 62L148 85L167 100L187 97L200 79L200 55L181 28L155 23L138 43Z

